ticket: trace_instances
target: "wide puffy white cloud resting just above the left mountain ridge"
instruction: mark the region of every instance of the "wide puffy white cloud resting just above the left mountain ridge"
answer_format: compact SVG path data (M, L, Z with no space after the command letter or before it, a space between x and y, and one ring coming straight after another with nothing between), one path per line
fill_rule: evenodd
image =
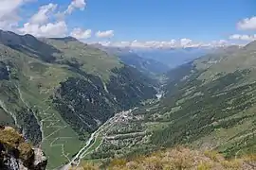
M21 33L32 34L36 37L64 37L66 36L67 26L64 21L47 23L46 25L26 23L18 29Z

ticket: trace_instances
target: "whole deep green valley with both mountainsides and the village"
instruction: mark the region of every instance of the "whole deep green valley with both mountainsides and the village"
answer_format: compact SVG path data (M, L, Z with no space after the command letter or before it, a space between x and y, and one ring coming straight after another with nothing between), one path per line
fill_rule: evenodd
M42 147L48 169L176 145L226 159L255 154L255 42L168 72L70 37L1 31L0 42L0 123Z

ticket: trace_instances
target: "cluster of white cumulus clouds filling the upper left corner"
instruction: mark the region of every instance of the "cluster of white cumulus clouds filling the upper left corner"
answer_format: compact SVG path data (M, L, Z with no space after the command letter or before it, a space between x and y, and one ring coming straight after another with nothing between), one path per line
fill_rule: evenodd
M35 0L0 0L0 29L32 34L36 37L63 37L68 35L66 15L75 9L83 10L86 6L85 0L72 0L66 10L56 11L58 5L50 3L41 6L30 18L24 19L19 15L19 9L29 1ZM19 25L21 21L25 23L23 26ZM91 30L76 28L70 35L86 39L91 36Z

